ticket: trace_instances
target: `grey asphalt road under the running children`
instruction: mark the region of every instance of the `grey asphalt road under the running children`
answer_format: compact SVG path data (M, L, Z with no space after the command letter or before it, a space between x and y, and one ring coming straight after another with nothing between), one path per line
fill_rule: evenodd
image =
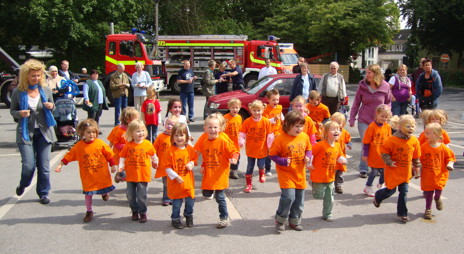
M356 85L349 85L350 103ZM353 137L353 150L348 151L348 172L344 194L336 194L334 222L321 219L322 201L305 193L304 231L286 230L278 235L274 230L274 215L280 189L277 176L261 184L253 179L254 190L244 193L246 160L242 151L239 171L241 178L231 180L227 191L231 226L216 229L217 204L204 200L198 189L201 175L195 168L197 198L194 207L195 226L176 230L170 225L170 207L161 206L161 182L149 183L148 222L130 220L130 208L125 196L125 184L115 184L110 200L94 198L94 220L83 223L84 195L77 163L73 162L58 174L51 172L51 203L41 205L33 186L17 197L21 159L15 141L15 127L9 110L0 105L0 253L462 253L464 235L462 190L464 176L464 89L446 88L439 108L448 111L450 134L458 162L445 190L444 210L433 208L434 217L422 219L425 200L419 180L412 180L408 195L411 221L403 224L396 217L397 194L385 200L380 208L363 194L365 179L358 177L360 141L355 128L347 127ZM161 96L166 109L168 93ZM190 125L195 138L202 133L204 97L195 97L196 121ZM113 111L104 111L101 119L103 138L112 129ZM79 118L86 113L78 108ZM165 112L165 111L163 111ZM423 126L417 120L416 134ZM66 150L52 153L52 169Z

